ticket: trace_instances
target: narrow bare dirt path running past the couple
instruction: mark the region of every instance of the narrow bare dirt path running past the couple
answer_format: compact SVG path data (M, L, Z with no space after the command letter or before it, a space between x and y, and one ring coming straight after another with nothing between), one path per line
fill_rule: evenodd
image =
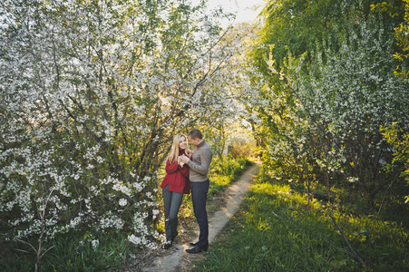
M222 228L229 222L229 219L236 213L243 199L245 198L248 189L253 179L258 174L259 164L253 164L248 170L246 170L237 181L226 189L224 193L224 203L218 211L216 211L211 217L209 217L209 247L211 242L219 234ZM199 231L195 231L199 237ZM169 271L180 272L188 271L190 262L193 259L197 259L202 254L190 255L186 252L186 249L190 248L188 244L173 244L165 256L156 257L149 267L143 267L142 271Z

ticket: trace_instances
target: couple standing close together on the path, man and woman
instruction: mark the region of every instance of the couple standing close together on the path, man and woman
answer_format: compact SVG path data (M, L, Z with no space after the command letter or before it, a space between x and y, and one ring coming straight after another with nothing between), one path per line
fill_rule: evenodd
M188 140L195 147L188 149ZM206 212L206 199L209 191L209 166L212 152L203 135L198 130L189 132L188 137L178 134L174 137L168 160L166 175L161 183L165 209L166 243L171 246L178 235L178 213L183 194L190 194L193 210L200 228L199 241L190 243L193 248L186 251L197 254L209 248L209 224Z

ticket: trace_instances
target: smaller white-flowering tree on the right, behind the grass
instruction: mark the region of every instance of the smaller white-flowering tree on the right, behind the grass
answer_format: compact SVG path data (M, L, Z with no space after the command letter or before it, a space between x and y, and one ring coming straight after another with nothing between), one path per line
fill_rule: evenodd
M316 159L326 160L330 170L345 170L346 179L372 203L396 179L381 171L391 152L380 128L394 121L405 125L409 93L407 83L393 73L392 35L375 16L363 19L340 35L339 51L327 46L313 54L307 73L293 66L291 77L302 112L326 140L319 141L324 152Z

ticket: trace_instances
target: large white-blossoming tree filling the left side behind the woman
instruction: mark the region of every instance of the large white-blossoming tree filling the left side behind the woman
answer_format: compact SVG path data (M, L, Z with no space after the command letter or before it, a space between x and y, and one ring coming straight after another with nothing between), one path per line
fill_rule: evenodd
M153 247L157 171L173 135L219 97L207 84L235 47L202 7L1 5L0 216L9 237L124 229Z

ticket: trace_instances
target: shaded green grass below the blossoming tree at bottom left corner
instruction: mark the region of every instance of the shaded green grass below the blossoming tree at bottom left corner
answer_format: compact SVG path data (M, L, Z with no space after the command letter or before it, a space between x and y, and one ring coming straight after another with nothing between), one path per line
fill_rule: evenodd
M35 241L32 243L35 245ZM31 271L35 259L29 247L22 248L14 242L5 243L2 248L0 268L2 271ZM92 235L71 233L60 235L44 243L49 248L42 259L39 271L102 271L120 267L129 259L135 247L127 236L119 233ZM4 254L22 248L28 253L22 255Z

